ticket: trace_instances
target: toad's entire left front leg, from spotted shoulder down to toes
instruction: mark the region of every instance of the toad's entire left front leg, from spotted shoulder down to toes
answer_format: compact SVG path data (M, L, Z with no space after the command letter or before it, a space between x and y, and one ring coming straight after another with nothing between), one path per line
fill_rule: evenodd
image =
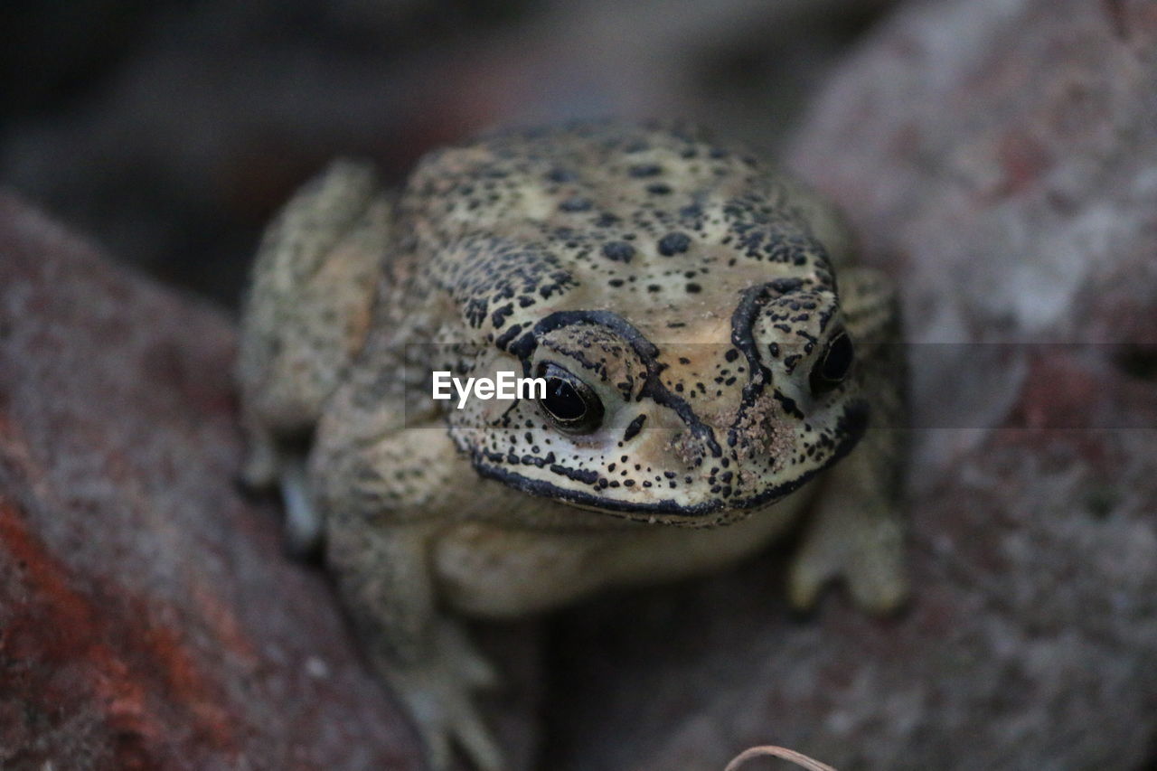
M370 353L399 369L388 352ZM478 506L477 487L463 484L473 471L436 416L401 420L398 388L363 368L318 425L309 479L325 512L326 561L362 649L410 712L430 766L448 768L458 746L478 769L500 771L473 703L495 676L444 612L433 561L441 533Z

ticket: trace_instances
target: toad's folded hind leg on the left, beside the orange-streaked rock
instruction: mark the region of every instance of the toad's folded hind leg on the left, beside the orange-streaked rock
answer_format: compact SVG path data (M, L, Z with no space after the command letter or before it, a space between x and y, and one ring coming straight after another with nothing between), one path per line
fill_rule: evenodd
M249 436L244 478L257 487L279 484L296 551L320 533L303 455L364 339L389 214L373 171L338 161L273 220L253 265L237 357Z

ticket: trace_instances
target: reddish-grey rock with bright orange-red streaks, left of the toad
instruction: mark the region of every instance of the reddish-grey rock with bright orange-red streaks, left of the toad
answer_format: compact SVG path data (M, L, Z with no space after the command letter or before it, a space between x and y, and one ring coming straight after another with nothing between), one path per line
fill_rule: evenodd
M233 352L220 314L0 194L0 768L422 768L233 482ZM529 671L532 640L499 641Z

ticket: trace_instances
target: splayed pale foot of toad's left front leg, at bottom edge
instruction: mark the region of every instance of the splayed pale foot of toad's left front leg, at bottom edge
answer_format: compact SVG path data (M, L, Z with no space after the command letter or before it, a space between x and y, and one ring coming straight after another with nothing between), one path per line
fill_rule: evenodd
M474 706L472 693L498 684L498 676L452 622L439 624L433 649L413 664L379 656L379 671L410 710L434 771L450 768L451 744L479 771L502 771L506 762Z

